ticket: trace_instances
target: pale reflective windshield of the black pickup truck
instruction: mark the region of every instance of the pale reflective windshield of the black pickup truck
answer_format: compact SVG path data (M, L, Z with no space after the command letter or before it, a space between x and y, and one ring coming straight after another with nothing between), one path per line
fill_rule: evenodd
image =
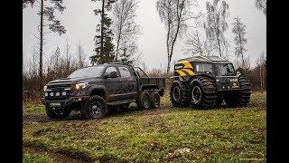
M100 77L101 72L103 72L103 66L93 66L83 69L79 69L75 72L72 72L69 78L81 78L81 77Z

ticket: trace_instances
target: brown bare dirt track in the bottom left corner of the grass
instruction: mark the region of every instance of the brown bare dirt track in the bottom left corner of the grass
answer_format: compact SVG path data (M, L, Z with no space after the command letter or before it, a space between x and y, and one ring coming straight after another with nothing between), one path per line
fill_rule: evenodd
M70 163L84 162L79 159L70 158L68 156L61 155L60 153L56 153L51 150L44 150L44 149L37 149L37 148L23 148L23 153L46 155L52 158L55 162L70 162Z

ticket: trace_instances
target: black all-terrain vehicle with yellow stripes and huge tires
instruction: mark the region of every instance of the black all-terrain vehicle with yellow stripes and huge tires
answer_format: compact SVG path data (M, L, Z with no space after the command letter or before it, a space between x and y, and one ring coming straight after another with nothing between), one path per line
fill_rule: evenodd
M171 101L174 107L246 107L250 82L219 56L195 56L174 65Z

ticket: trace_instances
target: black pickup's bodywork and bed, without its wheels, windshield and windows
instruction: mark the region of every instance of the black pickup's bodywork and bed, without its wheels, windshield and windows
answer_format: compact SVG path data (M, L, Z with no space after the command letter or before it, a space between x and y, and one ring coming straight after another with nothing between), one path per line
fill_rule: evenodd
M89 98L95 95L103 98L107 106L136 101L142 91L155 91L163 96L164 78L149 78L146 74L146 77L140 77L139 72L127 62L112 62L97 66L103 67L98 77L61 78L48 82L42 103L46 107L58 110L80 110ZM112 72L112 76L107 75L105 73L108 68L115 69L116 72ZM120 69L129 71L126 77L122 76ZM77 90L75 86L79 83L85 83L87 86Z

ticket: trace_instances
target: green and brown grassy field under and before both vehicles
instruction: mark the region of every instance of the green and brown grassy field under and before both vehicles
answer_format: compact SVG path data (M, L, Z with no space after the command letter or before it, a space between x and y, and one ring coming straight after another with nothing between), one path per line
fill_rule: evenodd
M23 108L23 162L266 162L266 92L247 108L113 111L103 120L49 120Z

